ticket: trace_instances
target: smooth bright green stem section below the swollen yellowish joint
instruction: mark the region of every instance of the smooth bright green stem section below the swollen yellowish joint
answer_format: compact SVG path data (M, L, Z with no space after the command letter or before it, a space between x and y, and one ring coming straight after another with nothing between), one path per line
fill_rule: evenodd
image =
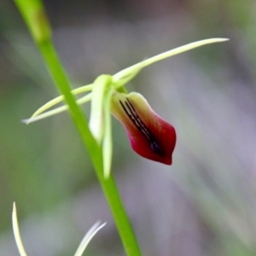
M96 140L92 137L87 121L84 118L84 114L81 112L79 106L76 104L73 94L70 92L72 89L69 86L67 76L61 67L61 62L55 53L50 42L44 44L38 44L38 47L44 57L49 72L55 80L56 86L61 90L61 93L65 96L69 111L73 117L81 137L83 138L84 145L86 146L90 159L95 167L97 177L102 185L102 190L108 200L108 205L113 213L113 218L119 230L119 235L123 241L125 251L127 255L141 255L140 249L137 245L137 240L134 232L131 228L131 223L125 212L125 208L119 196L119 191L114 183L113 176L108 179L104 178L103 166L102 166L102 150L97 145Z

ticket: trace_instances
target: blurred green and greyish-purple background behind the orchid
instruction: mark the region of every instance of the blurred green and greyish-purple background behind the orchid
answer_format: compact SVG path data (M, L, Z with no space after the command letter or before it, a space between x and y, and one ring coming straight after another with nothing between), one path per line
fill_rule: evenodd
M136 90L177 130L173 165L135 154L113 120L113 174L146 256L256 254L256 3L253 0L44 1L73 87L168 49L230 38L147 67ZM58 95L15 4L0 2L0 255L125 255L67 113L24 125ZM84 106L88 115L90 106Z

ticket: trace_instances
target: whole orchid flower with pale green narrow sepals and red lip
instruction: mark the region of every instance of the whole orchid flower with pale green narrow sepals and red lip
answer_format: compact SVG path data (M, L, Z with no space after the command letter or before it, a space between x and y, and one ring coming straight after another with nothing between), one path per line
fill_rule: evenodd
M125 126L131 148L137 154L149 160L172 165L172 153L176 143L175 129L166 120L160 118L157 113L154 113L147 100L141 94L137 92L128 93L125 89L125 84L133 79L143 67L147 67L156 61L161 61L172 55L177 55L205 44L226 40L228 39L212 38L186 44L127 67L113 76L101 75L93 84L85 85L72 91L73 95L77 95L91 90L89 94L77 100L77 103L83 104L91 101L90 131L97 143L102 147L103 170L106 178L110 173L113 150L111 113ZM63 96L55 98L33 113L31 119L24 121L28 124L67 110L67 105L64 105L45 112L63 100Z

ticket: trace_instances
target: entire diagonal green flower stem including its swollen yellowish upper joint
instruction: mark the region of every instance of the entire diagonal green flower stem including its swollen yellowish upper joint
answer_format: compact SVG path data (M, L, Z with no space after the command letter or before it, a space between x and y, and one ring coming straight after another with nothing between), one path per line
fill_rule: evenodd
M75 98L71 93L71 86L64 72L61 62L55 52L54 46L50 38L50 28L46 16L44 15L44 7L39 0L15 0L17 7L20 9L21 15L26 20L27 26L32 32L38 49L43 55L49 73L55 82L56 87L65 97L69 112L77 126L80 136L83 139L84 145L87 148L90 159L96 170L96 175L102 185L102 190L107 198L108 205L113 214L114 221L119 230L121 241L125 247L127 255L139 256L140 249L137 244L137 239L131 228L130 220L125 212L125 208L119 196L119 191L114 182L113 176L108 179L104 178L102 164L102 148L98 146L94 137L90 133L88 122L81 111L81 108L75 102ZM34 27L35 26L35 27Z

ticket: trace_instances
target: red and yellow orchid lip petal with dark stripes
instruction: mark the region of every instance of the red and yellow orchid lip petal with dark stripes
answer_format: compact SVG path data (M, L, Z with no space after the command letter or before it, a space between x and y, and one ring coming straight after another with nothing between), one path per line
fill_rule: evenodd
M166 165L172 165L176 132L172 125L160 118L139 93L114 92L111 112L118 119L137 154Z

